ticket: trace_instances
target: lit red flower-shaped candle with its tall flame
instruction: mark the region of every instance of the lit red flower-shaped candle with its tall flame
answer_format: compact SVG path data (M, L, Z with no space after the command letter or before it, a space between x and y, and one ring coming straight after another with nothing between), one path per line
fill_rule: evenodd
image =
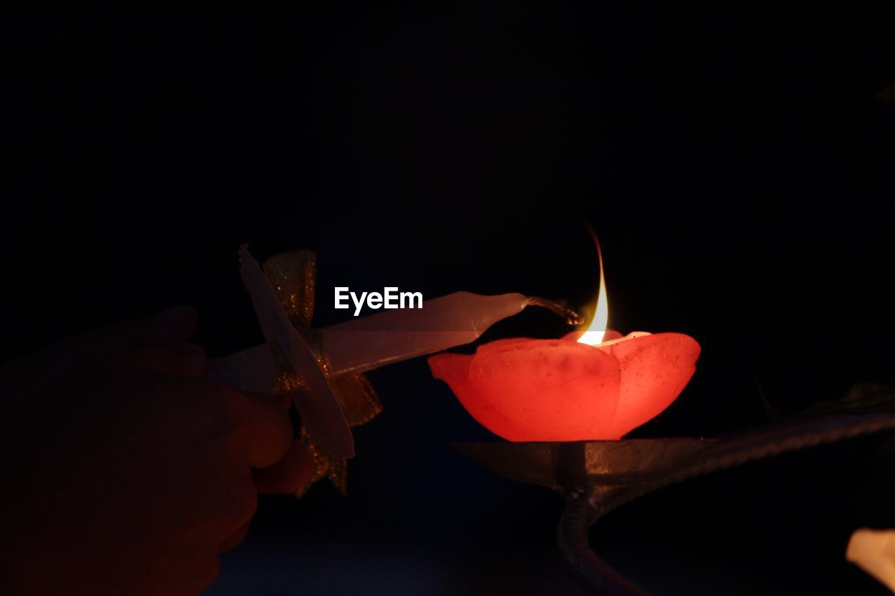
M693 376L699 344L679 333L607 332L602 262L600 269L596 314L583 334L439 353L429 358L432 375L473 418L511 441L618 439L651 420Z

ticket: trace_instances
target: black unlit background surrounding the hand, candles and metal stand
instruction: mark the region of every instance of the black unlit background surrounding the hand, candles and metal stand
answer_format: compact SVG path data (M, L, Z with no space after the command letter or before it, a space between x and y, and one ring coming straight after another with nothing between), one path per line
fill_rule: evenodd
M895 384L892 8L623 2L7 19L2 357L189 302L211 355L259 343L235 251L333 285L592 303L686 332L695 378L637 436L713 436ZM499 336L557 336L525 312ZM349 497L265 498L211 594L579 593L562 500L451 451L491 440L422 360L370 374ZM873 593L858 441L694 481L601 523L664 593Z

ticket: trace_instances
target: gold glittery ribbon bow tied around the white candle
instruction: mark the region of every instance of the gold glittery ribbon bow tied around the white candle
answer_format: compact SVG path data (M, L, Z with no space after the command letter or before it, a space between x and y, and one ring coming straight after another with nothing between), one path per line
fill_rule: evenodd
M379 404L379 397L376 396L370 381L362 374L333 377L332 367L320 341L320 334L311 330L314 285L317 279L317 260L314 251L292 251L274 255L264 261L264 274L274 286L280 302L283 302L289 320L311 346L317 364L326 375L329 387L332 387L348 426L354 427L371 421L382 412L382 404ZM290 393L303 391L303 380L295 374L286 359L286 354L282 353L277 345L272 344L270 347L274 353L274 362L282 386ZM311 454L313 470L311 480L296 494L299 497L303 496L311 485L321 478L328 478L342 494L345 494L348 460L345 457L328 454L314 441L304 425L299 438Z

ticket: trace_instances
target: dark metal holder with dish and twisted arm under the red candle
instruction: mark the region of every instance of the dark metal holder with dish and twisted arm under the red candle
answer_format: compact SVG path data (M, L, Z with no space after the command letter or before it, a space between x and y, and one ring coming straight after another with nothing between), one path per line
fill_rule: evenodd
M562 443L462 443L456 451L516 481L567 498L559 551L599 594L646 594L593 551L588 531L603 515L653 490L765 457L895 429L895 413L848 413L774 421L721 438L641 438Z

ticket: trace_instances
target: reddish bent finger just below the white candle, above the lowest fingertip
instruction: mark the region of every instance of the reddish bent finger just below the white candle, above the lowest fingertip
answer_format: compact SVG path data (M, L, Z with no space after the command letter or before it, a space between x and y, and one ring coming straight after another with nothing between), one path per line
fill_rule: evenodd
M240 394L241 430L244 447L253 468L276 464L292 445L293 429L289 413L275 397Z

